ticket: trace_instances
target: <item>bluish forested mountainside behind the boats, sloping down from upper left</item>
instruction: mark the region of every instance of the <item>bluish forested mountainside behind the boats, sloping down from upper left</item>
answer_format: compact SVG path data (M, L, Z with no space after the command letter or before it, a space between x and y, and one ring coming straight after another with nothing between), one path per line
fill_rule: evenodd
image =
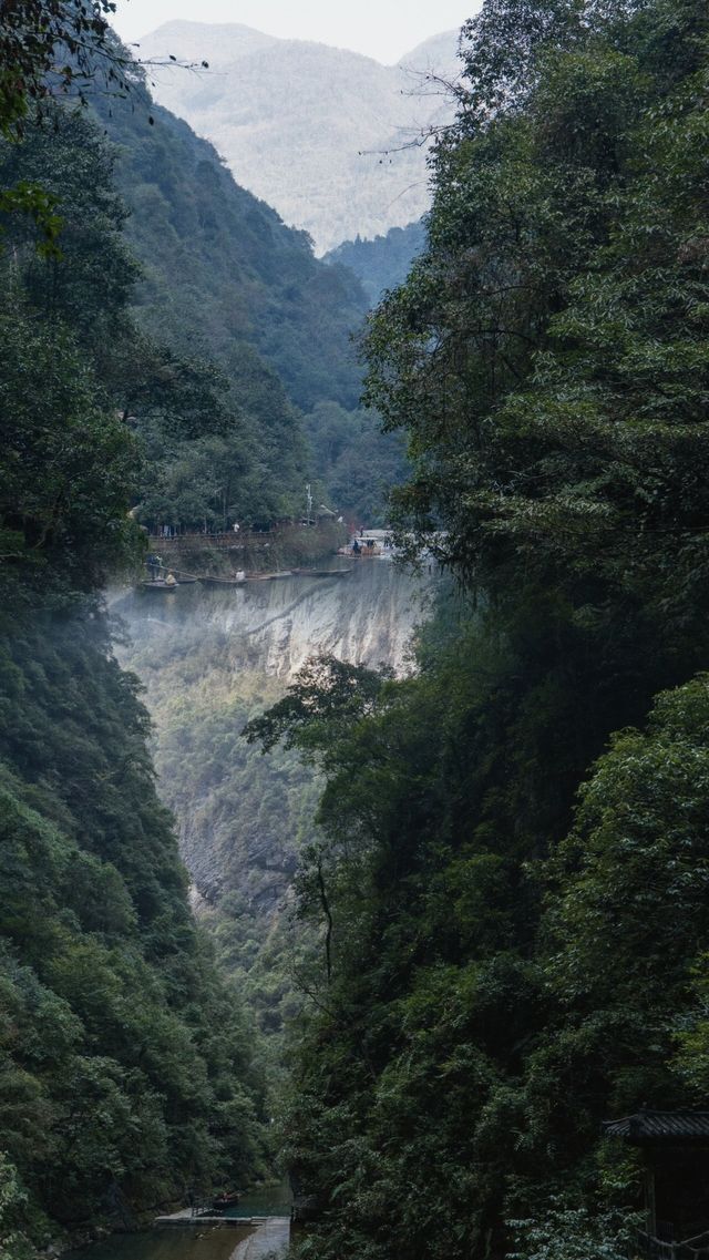
M140 79L128 100L98 97L96 107L118 145L125 233L142 263L141 325L159 328L178 354L214 363L238 417L196 442L156 437L159 476L146 481L141 519L262 524L301 513L310 480L316 505L383 520L404 476L403 442L359 408L353 338L369 302L353 273L319 262L303 233L239 188Z

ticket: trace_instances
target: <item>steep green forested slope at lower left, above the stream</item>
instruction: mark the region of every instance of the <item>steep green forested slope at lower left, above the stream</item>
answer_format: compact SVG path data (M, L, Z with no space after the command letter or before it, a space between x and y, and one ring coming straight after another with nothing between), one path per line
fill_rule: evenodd
M102 620L5 617L0 669L0 1108L37 1240L40 1212L113 1220L248 1176L261 1086Z

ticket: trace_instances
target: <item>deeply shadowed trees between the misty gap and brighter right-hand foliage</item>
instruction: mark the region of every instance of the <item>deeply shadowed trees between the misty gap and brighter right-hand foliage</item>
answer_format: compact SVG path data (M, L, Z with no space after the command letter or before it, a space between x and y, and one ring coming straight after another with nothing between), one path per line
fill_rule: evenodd
M533 898L509 766L490 764L509 662L482 660L481 640L421 678L366 679L363 716L350 703L330 737L315 706L305 737L291 728L329 767L329 842L300 892L331 921L330 965L291 1118L293 1168L330 1208L312 1254L467 1255L504 1193L509 1135L486 1109L547 1003L516 949Z

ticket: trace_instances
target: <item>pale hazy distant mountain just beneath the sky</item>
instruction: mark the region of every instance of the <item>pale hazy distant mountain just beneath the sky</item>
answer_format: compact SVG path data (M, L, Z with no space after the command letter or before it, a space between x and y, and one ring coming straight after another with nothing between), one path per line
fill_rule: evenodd
M457 32L397 66L243 25L171 21L146 35L156 100L207 136L237 183L309 232L317 253L412 223L428 208L422 132L451 105L426 74L456 73ZM160 66L169 57L208 71Z

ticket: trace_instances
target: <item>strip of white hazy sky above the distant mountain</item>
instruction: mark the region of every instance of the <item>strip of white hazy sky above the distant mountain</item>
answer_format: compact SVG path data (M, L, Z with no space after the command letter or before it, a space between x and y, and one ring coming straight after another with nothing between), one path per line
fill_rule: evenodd
M268 35L317 39L377 60L397 62L416 44L460 26L480 0L117 0L113 19L125 40L164 21L241 21Z

